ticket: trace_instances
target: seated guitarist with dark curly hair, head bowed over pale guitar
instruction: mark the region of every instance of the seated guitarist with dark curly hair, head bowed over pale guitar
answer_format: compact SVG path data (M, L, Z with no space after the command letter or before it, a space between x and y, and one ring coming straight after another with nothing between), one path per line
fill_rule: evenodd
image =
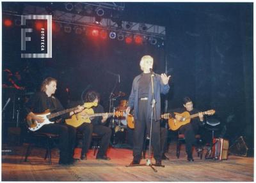
M104 113L104 108L102 105L99 104L100 102L100 96L95 91L88 91L86 93L85 102L95 102L98 103L97 106L94 106L93 112L94 113ZM81 131L83 133L83 147L81 152L81 159L87 159L86 153L88 152L88 149L90 147L90 143L92 140L92 133L96 133L97 135L101 136L100 140L100 149L97 152L96 159L104 159L104 160L110 160L108 156L106 156L106 152L108 150L110 138L111 138L111 129L104 126L106 120L108 119L108 113L104 113L104 115L99 117L91 117L91 122L84 122L81 124L77 131Z

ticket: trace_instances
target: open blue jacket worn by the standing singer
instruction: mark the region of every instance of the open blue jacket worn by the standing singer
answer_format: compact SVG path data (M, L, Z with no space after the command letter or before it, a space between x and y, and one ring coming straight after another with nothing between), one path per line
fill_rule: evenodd
M134 119L138 119L138 91L139 91L139 81L143 73L134 78L132 82L132 91L129 97L129 106L134 108ZM154 96L156 99L156 115L154 114L153 119L161 119L161 98L160 94L168 93L170 86L168 84L164 85L161 80L161 75L153 73L153 82L154 82ZM152 102L152 85L149 83L149 91L148 91L148 104L147 104L147 118L151 118L151 102Z

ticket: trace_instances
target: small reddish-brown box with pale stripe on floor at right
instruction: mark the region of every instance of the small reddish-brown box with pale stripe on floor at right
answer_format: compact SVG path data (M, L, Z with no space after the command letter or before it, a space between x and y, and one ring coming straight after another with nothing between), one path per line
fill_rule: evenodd
M223 138L214 138L213 144L212 155L214 156L214 159L228 159L228 140Z

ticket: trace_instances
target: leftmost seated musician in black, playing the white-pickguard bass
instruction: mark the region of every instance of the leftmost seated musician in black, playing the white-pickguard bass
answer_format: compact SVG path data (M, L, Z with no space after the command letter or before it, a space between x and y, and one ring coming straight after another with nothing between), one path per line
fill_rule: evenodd
M38 122L38 124L44 124L45 119L41 116L36 115L36 113L43 113L45 110L61 111L63 106L60 101L52 96L56 91L57 80L55 78L45 78L41 85L41 91L36 93L35 96L26 105L27 121L29 126L33 124L33 121ZM74 113L81 112L83 110L82 106L77 106L76 110L61 115L61 118L65 119ZM61 120L60 120L61 121ZM68 165L74 163L73 152L74 144L76 140L76 128L59 123L44 124L41 128L37 129L36 132L39 133L52 133L59 135L58 147L60 149L60 160L59 164Z

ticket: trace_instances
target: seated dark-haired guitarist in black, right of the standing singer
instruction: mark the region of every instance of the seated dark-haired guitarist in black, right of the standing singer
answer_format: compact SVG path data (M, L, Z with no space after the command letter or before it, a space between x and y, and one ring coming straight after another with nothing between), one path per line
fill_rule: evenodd
M190 115L198 113L198 117L191 119L188 124L181 126L179 129L180 134L184 134L186 139L186 153L188 155L188 161L194 161L192 156L192 146L195 145L197 150L201 150L196 144L195 135L199 133L199 127L204 125L204 115L202 112L199 112L199 110L193 108L193 103L188 97L185 97L183 99L183 106L184 108L177 108L175 110L169 110L168 112L173 118L177 119L178 121L182 121L182 116L175 114L174 112L189 112Z

